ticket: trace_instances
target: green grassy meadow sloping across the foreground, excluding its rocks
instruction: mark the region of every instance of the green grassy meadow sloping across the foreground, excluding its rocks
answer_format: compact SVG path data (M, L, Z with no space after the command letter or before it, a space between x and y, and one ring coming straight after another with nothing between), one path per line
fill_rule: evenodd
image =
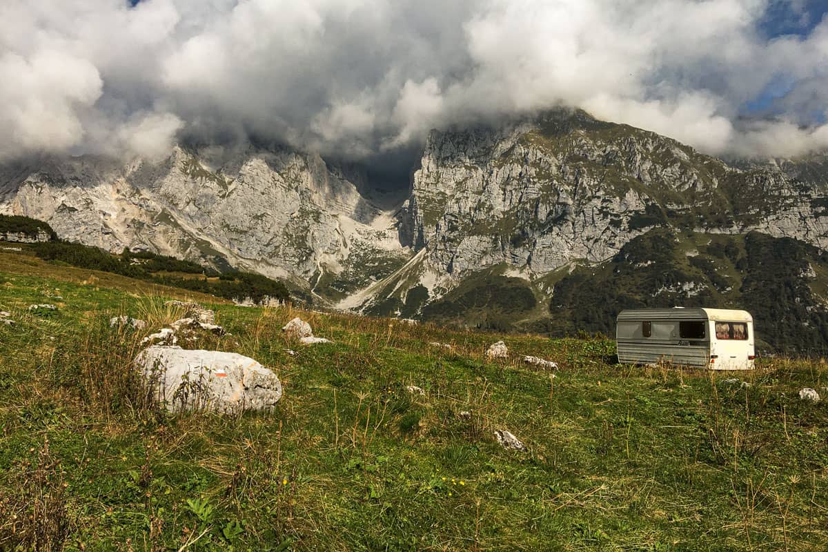
M797 396L828 394L823 362L766 359L735 374L743 388L724 383L734 374L615 366L600 339L211 305L232 335L205 346L271 367L285 395L267 415L168 415L147 406L131 362L143 335L181 314L162 303L181 290L144 295L125 278L89 285L52 268L0 271L0 310L17 320L0 326L0 550L828 542L828 409ZM34 303L59 309L41 316ZM115 314L150 324L108 329ZM334 343L286 340L296 315ZM501 338L510 357L488 362ZM561 370L551 379L524 354ZM502 449L496 429L528 452Z

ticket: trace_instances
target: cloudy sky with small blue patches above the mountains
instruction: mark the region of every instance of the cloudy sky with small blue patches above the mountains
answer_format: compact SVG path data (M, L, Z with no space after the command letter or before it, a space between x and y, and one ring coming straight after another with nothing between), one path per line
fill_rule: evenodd
M180 140L396 158L568 106L720 156L828 148L828 0L3 0L0 160Z

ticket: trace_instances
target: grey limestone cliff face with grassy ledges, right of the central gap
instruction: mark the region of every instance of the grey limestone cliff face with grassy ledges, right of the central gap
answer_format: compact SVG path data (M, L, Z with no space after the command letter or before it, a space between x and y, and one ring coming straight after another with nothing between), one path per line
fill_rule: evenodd
M662 225L826 248L826 195L777 165L736 169L652 132L557 112L505 132L431 132L411 204L418 246L446 273L506 263L541 275L603 261Z

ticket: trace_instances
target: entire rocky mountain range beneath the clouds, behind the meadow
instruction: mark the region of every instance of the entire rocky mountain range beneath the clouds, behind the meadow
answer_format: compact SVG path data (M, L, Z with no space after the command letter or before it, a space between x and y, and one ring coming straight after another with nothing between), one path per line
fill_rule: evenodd
M562 334L704 303L752 310L768 348L828 348L828 156L728 163L582 111L432 131L402 194L301 152L177 146L2 167L0 213L366 314Z

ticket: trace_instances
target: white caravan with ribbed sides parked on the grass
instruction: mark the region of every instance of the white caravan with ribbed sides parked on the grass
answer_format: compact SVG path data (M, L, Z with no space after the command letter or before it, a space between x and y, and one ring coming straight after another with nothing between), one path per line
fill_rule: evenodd
M619 362L662 360L712 370L751 370L753 318L745 310L622 310L615 338Z

